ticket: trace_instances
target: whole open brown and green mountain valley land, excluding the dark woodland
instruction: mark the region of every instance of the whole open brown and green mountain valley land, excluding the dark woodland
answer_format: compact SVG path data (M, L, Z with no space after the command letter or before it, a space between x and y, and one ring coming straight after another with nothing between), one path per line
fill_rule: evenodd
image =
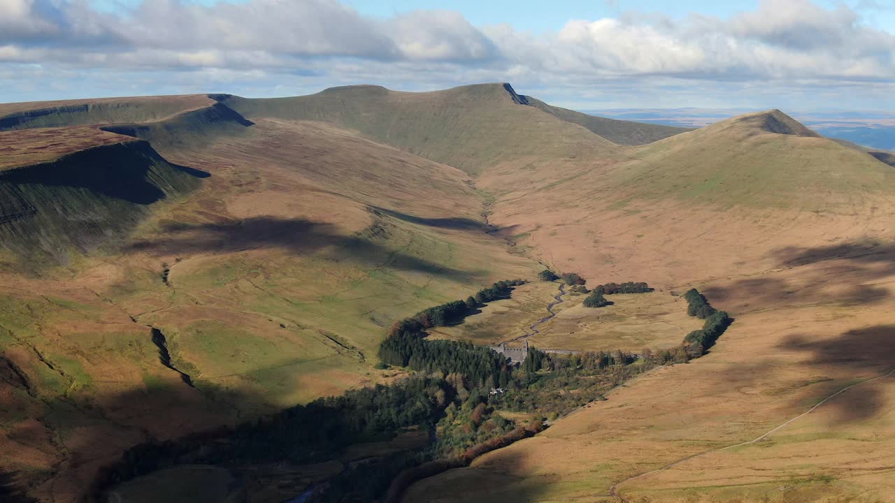
M631 361L571 371L601 397L574 411L494 398L473 433L556 414L401 501L893 501L893 168L780 110L692 131L588 117L503 83L0 106L0 471L79 501L133 446L447 378L383 362L389 328L522 278L421 340ZM654 291L588 308L545 266ZM736 321L637 370L703 327L693 287ZM497 371L548 387L567 357ZM430 426L454 431L447 406ZM174 476L235 483L196 470ZM315 470L263 501L339 473Z

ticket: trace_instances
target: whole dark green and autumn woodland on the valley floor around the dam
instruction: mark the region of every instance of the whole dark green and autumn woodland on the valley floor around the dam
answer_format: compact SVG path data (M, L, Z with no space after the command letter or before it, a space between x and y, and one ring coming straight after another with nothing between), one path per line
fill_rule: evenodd
M470 298L476 304L479 298L490 302L523 283L498 282ZM627 283L609 291L644 288L648 286ZM601 294L605 292L603 288ZM688 303L708 304L698 292L685 296ZM426 448L351 466L312 500L369 501L382 498L387 490L395 499L402 481L466 465L482 452L540 431L544 417L553 419L600 400L609 388L655 366L703 354L732 321L726 312L712 311L703 328L688 334L681 346L660 352L644 349L640 355L545 354L530 346L524 362L515 366L485 346L426 338L427 328L458 320L469 309L466 301L445 303L398 320L388 329L379 358L415 371L412 377L320 398L234 428L136 446L107 467L96 487L99 491L172 465L315 463L332 459L350 444L388 439L408 428L433 431L437 441ZM502 392L492 395L492 388ZM501 416L500 410L534 413L533 422L520 426Z

